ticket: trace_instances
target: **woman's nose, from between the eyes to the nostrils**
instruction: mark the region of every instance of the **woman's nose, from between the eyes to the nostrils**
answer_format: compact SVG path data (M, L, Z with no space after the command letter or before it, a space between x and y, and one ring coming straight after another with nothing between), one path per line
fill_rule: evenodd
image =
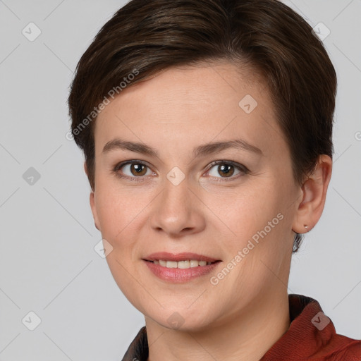
M187 177L178 185L164 180L164 189L152 204L150 224L157 232L172 238L197 233L205 228L205 205L195 190L190 189Z

